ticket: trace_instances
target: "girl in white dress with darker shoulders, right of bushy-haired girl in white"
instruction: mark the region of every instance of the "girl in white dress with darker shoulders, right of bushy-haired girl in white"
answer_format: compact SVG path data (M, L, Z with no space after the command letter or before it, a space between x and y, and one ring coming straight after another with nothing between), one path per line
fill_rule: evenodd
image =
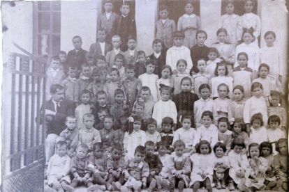
M251 84L253 79L253 70L248 65L248 55L241 52L237 56L239 66L232 70L233 86L242 86L244 99L251 97Z

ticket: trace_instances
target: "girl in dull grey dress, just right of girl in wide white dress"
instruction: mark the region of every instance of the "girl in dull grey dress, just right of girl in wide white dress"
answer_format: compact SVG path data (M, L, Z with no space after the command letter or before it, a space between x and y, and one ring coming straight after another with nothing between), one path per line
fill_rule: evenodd
M229 131L229 120L228 118L219 118L218 119L218 141L222 142L225 147L225 156L228 156L228 153L231 149L232 144L232 131Z

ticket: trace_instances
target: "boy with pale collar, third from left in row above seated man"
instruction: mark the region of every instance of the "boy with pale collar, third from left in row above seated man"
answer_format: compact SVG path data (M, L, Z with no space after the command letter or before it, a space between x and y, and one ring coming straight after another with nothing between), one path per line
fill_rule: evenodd
M90 66L87 63L84 63L82 65L82 74L80 75L80 79L77 79L75 83L75 101L80 102L80 93L82 90L89 87L89 83L92 81L90 74Z

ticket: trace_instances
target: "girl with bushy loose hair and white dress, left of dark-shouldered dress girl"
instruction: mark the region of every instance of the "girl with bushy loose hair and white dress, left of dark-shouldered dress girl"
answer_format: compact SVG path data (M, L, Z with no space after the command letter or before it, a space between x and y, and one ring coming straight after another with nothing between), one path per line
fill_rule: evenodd
M232 96L232 77L227 77L228 75L228 67L225 63L217 63L216 65L216 69L215 69L215 75L216 77L212 78L212 95L211 97L213 97L214 99L216 99L216 97L219 97L218 95L218 86L221 83L225 83L230 90L230 93L228 93L228 96L231 97Z

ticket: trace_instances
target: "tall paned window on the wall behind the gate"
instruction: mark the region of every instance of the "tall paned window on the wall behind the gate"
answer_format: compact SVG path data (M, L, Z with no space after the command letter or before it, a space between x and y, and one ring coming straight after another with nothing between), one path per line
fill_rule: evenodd
M54 56L60 50L61 1L39 1L34 6L34 54Z

